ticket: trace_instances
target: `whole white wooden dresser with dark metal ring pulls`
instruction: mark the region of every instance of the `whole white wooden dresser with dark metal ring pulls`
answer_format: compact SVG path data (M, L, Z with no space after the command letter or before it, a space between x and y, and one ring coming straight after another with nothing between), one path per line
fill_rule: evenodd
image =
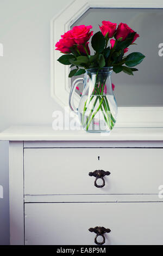
M0 140L10 141L11 245L163 245L162 128L19 126Z

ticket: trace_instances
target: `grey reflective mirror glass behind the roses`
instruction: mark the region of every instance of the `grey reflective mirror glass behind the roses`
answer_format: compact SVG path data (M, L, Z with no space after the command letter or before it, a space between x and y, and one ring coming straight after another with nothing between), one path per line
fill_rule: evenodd
M112 74L118 106L163 106L163 9L91 8L72 27L92 25L96 33L103 20L117 25L127 23L139 33L137 45L131 45L127 54L142 52L146 56L136 67L139 71L134 76L123 72ZM73 77L72 81L78 77ZM82 90L83 85L80 85L77 93L81 95Z

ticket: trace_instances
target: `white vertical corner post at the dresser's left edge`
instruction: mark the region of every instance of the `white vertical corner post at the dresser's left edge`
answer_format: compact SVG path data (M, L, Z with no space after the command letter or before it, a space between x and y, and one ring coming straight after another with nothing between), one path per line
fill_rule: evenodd
M23 142L9 144L10 245L24 245Z

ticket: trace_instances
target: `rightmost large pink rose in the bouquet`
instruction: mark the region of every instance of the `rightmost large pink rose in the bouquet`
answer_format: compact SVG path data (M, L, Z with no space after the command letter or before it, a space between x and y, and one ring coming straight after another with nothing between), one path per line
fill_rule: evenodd
M133 32L135 31L131 29L126 23L121 22L120 25L118 25L117 27L115 38L118 39L122 37L122 41L123 41L127 38L129 33L133 33ZM136 33L132 43L136 40L137 37L139 37L139 34Z

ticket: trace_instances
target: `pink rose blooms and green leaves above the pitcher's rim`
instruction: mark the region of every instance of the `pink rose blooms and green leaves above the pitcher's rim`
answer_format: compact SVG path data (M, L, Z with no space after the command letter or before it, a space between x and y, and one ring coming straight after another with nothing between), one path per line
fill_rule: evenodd
M135 44L139 37L127 24L103 21L99 26L101 31L93 35L90 31L92 26L75 26L70 31L61 35L61 39L55 45L60 52L64 53L58 61L65 65L71 65L69 77L85 73L86 69L113 67L115 73L124 72L133 75L138 69L133 68L140 64L145 56L140 52L128 52L128 47ZM92 37L93 35L93 37ZM90 55L89 40L95 51Z

